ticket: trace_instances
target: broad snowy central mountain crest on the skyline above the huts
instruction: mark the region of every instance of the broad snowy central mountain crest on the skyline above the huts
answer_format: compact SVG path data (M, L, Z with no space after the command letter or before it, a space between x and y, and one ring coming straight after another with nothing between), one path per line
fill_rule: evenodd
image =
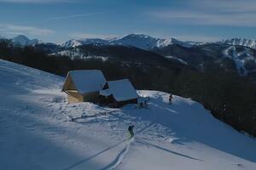
M150 37L144 34L129 34L124 37L115 37L111 39L99 39L99 38L85 38L85 39L72 39L67 42L62 42L61 47L63 48L75 48L80 45L90 44L90 43L101 43L101 44L112 44L112 45L125 45L133 46L142 49L151 48L163 48L172 44L179 44L183 47L190 48L197 42L182 42L174 38L156 38Z

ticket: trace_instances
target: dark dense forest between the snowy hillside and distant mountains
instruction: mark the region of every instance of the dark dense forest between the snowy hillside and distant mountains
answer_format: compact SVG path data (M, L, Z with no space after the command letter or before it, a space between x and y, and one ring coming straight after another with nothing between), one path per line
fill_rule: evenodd
M153 65L120 60L70 59L33 47L0 42L0 58L65 77L67 71L102 70L108 80L129 78L137 89L160 90L194 99L219 120L256 136L256 85L236 72L211 64L205 71L187 66Z

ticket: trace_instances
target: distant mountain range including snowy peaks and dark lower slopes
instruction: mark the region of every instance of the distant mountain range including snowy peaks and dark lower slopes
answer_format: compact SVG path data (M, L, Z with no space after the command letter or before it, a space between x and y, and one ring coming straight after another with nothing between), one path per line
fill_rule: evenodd
M12 38L11 42L15 46L33 46L48 54L65 55L72 59L137 59L139 62L152 61L153 65L165 63L167 59L202 71L211 63L217 63L227 71L237 71L241 76L256 80L256 41L245 38L202 43L130 34L112 39L71 39L55 44L20 35Z

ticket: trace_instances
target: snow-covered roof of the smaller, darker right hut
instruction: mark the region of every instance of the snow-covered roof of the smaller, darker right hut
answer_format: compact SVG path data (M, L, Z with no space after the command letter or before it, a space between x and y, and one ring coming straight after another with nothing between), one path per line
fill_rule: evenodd
M128 79L109 81L108 88L101 90L100 94L103 96L113 94L113 98L117 101L137 99L137 92Z

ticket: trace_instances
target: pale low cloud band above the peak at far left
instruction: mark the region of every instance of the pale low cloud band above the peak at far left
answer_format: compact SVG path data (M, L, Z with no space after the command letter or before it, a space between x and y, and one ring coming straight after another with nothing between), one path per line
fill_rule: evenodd
M0 31L3 33L19 32L19 34L26 34L31 36L47 36L55 33L53 30L38 28L35 26L15 26L15 25L0 25Z

